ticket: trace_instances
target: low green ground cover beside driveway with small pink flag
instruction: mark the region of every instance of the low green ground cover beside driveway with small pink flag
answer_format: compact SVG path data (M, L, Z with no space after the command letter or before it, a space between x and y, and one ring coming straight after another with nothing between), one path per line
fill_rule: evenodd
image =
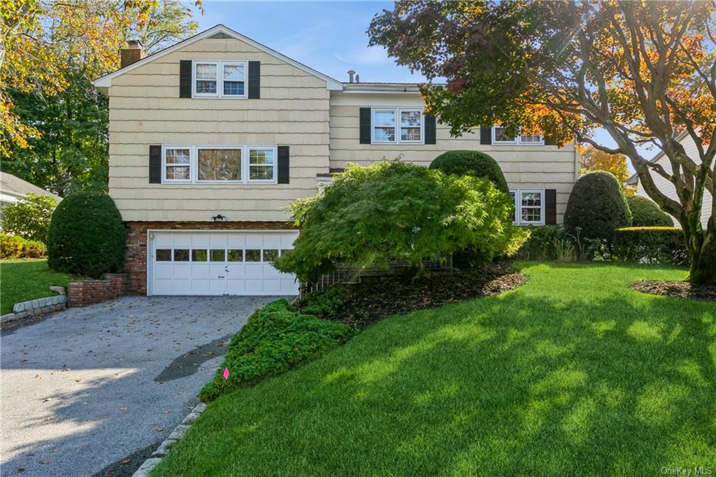
M346 342L354 330L347 324L319 319L291 307L286 299L253 312L231 338L216 376L201 390L208 402L262 377L276 375ZM223 370L228 369L228 379Z

